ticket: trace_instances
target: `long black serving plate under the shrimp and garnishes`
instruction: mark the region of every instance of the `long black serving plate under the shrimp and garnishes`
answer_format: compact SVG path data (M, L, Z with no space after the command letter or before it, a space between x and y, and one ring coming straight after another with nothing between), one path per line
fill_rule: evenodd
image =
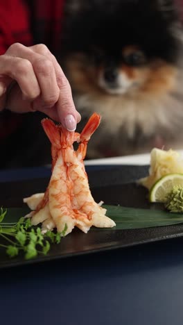
M96 201L103 200L106 204L148 208L147 192L136 185L135 181L147 174L148 166L116 166L107 168L87 168L89 184ZM1 183L0 206L23 207L22 197L35 192L43 192L49 178L32 178L23 181ZM177 238L183 235L183 225L162 226L137 230L89 231L85 234L77 228L61 240L60 244L51 247L47 256L38 256L26 261L22 256L10 259L0 252L0 267L10 267L26 263L36 263L56 258L77 256L84 253L130 247L132 245Z

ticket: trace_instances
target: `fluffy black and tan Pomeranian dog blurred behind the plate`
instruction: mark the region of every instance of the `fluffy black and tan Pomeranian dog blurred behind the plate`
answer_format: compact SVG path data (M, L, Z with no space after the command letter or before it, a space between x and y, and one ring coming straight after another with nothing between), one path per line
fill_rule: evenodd
M62 65L76 107L82 122L94 111L102 116L87 157L183 148L183 38L175 3L67 0L64 17Z

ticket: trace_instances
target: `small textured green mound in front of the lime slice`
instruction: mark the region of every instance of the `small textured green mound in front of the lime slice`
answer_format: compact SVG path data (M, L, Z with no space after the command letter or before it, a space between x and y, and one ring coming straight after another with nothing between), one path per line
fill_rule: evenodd
M183 187L175 185L165 199L165 208L171 213L183 213Z

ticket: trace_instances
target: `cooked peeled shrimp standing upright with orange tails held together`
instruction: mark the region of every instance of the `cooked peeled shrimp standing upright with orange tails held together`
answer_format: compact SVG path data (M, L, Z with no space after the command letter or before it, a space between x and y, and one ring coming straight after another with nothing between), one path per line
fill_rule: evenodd
M87 143L101 122L94 113L81 133L67 131L50 119L43 119L42 126L51 141L52 175L46 192L24 199L32 213L33 225L42 223L42 231L67 228L65 235L76 226L87 233L91 226L111 228L116 224L105 215L106 209L94 201L89 189L83 160ZM78 149L73 143L78 142ZM67 225L67 226L66 226Z

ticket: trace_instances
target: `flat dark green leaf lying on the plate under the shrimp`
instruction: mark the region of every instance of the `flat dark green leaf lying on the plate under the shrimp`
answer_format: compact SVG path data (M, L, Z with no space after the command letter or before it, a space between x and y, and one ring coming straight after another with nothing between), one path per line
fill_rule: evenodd
M169 226L183 223L183 214L169 213L166 210L125 208L123 206L103 206L107 209L106 215L114 220L114 230L150 228ZM6 222L17 222L29 212L28 208L8 208ZM104 231L106 228L102 228ZM92 227L92 231L101 231L101 228ZM109 231L109 229L107 229Z

